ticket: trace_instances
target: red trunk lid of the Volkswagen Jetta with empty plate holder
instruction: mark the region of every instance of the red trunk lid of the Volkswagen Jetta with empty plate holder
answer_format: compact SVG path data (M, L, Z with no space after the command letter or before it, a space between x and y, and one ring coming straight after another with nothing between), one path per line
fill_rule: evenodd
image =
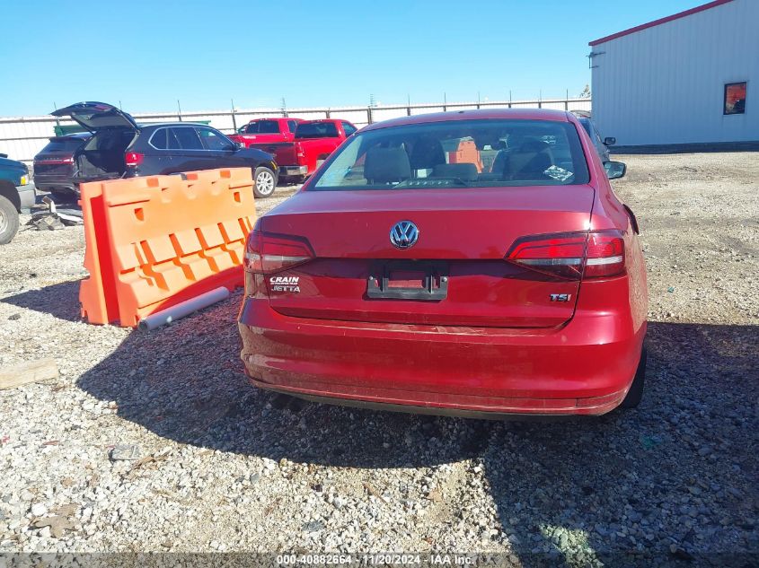
M589 186L306 190L261 220L265 234L307 240L314 257L267 275L269 302L303 318L558 326L573 315L579 281L505 257L525 235L587 231L593 196ZM390 238L402 221L419 231L408 249Z

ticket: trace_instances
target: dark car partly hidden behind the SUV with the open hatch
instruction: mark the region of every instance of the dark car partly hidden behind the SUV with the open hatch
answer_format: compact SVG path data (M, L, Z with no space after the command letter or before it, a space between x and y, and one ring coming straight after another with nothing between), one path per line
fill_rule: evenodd
M92 134L53 136L49 143L34 156L34 184L42 191L49 191L53 197L75 197L74 153Z

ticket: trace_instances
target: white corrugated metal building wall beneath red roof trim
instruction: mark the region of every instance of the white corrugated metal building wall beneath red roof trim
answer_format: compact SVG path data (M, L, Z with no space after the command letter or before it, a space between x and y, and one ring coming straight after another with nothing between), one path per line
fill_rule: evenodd
M759 0L733 0L593 46L593 116L617 144L759 141ZM722 114L746 81L746 113Z

